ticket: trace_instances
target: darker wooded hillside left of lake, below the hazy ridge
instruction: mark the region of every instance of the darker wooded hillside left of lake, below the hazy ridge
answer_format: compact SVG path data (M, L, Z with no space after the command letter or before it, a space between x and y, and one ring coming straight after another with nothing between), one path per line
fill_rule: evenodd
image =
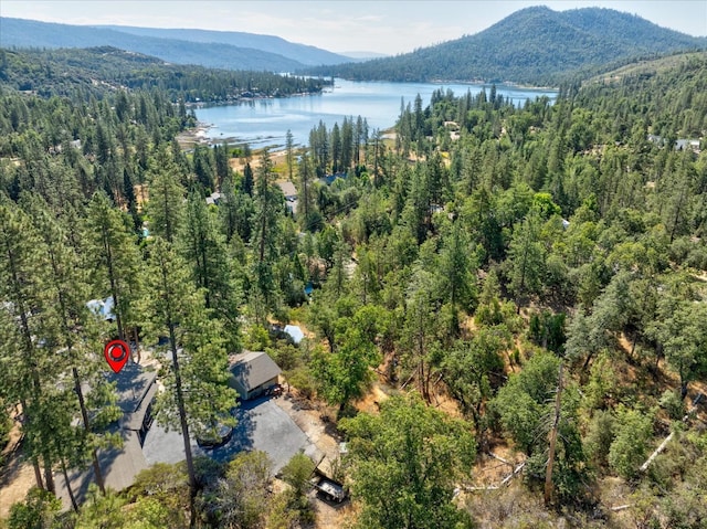
M224 103L241 98L314 94L329 81L270 72L177 66L115 47L4 50L0 47L0 87L43 97L93 95L120 89L159 89L171 102Z

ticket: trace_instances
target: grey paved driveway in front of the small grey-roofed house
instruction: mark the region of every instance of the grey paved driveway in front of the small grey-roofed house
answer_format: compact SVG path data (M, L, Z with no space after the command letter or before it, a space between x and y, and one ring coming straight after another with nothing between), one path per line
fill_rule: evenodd
M271 398L241 402L235 411L235 417L239 423L225 445L214 449L203 449L192 440L192 454L208 455L215 461L226 462L239 452L260 449L270 455L273 473L277 473L293 455L300 451L313 459L318 455L317 448L307 435ZM150 465L183 461L184 444L181 433L166 432L155 422L145 438L143 453Z

